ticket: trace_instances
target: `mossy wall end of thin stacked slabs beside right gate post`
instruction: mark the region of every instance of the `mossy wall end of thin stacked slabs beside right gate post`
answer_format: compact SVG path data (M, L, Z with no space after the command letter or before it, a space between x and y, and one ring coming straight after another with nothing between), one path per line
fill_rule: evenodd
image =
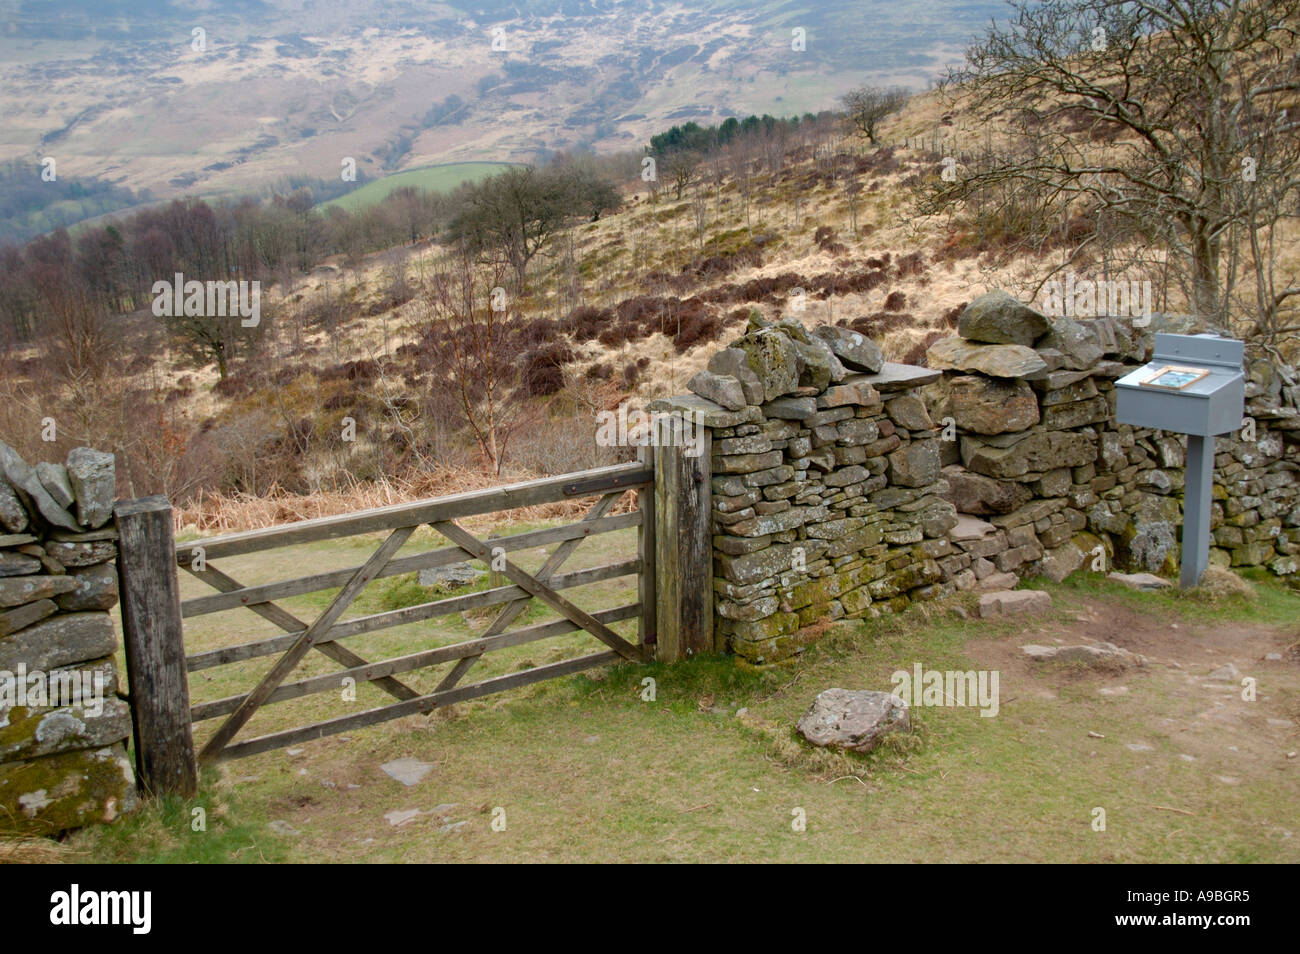
M741 659L798 652L810 628L953 590L939 560L956 524L940 429L867 338L793 318L749 331L651 411L712 429L715 626ZM815 630L812 630L815 632Z

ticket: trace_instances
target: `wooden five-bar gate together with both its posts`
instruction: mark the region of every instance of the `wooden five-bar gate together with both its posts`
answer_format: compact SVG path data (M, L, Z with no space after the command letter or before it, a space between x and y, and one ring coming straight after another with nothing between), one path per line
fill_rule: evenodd
M122 624L142 784L153 792L190 793L196 785L199 763L350 732L612 662L673 660L712 651L707 465L707 446L699 458L688 458L676 447L642 448L636 463L181 545L173 542L172 508L165 498L120 503L116 516ZM637 491L636 507L612 512L620 498L633 490ZM584 498L594 498L585 515L559 526L481 539L458 522L465 517ZM398 556L421 526L434 529L450 546ZM629 528L637 532L633 559L562 572L582 541ZM247 554L373 533L385 535L369 559L344 569L246 585L231 574L226 563L229 558ZM556 546L532 572L510 556L514 551L550 545ZM489 567L493 580L500 585L343 619L374 580L465 560ZM178 571L216 591L182 602ZM563 595L564 590L629 574L637 577L637 599L632 603L588 612ZM282 606L282 600L291 597L335 589L337 594L312 620ZM511 629L534 599L555 611L559 619ZM282 634L199 652L186 651L183 620L239 607L269 621L283 630ZM346 645L350 637L363 633L489 607L500 608L486 628L454 645L378 662ZM611 624L630 619L637 620L634 642L611 629ZM465 681L474 664L489 652L575 632L590 634L602 647L521 672ZM313 652L338 668L294 677L294 671ZM278 658L247 691L190 704L188 673L261 656ZM417 691L403 681L408 673L447 663L450 669L432 691ZM352 680L352 685L369 682L393 701L309 725L239 738L240 730L263 707L313 693L338 691L347 680ZM207 720L220 723L195 756L192 725Z

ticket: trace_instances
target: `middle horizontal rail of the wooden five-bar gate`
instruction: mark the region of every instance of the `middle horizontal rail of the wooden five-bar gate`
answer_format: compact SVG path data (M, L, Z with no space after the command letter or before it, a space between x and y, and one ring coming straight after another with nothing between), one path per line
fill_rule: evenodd
M624 560L621 563L610 563L603 567L581 569L573 573L564 573L562 576L552 577L550 586L555 590L572 589L575 586L585 586L586 584L601 582L602 580L614 580L620 576L640 572L641 560ZM436 616L446 616L452 612L463 612L464 610L478 610L488 606L497 606L499 603L510 603L515 599L528 599L530 595L532 594L521 586L497 586L490 590L482 590L481 593L469 593L464 597L448 597L447 599L437 599L429 603L408 606L403 610L390 610L389 612L373 613L370 616L359 616L355 620L335 623L316 639L316 645L343 639L360 633L370 633L377 629L400 626L407 623L419 623ZM283 636L273 636L266 639L239 643L238 646L226 646L220 650L195 652L192 656L186 658L186 668L190 672L196 672L198 669L208 669L213 665L226 665L228 663L238 663L244 659L283 652L292 646L300 636L302 632L285 633Z

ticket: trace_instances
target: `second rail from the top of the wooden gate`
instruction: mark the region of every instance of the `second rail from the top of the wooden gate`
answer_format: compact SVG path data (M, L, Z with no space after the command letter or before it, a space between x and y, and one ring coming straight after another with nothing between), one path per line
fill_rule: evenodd
M612 517L601 517L599 520L588 520L566 524L563 526L550 526L542 530L515 533L508 537L493 537L488 542L493 546L499 546L506 552L511 552L515 550L530 550L532 547L546 546L549 543L558 543L567 539L581 539L601 533L614 533L615 530L624 530L629 526L640 525L641 512L630 511ZM195 546L204 545L202 542L196 542ZM205 559L208 556L211 556L211 554L205 554ZM182 563L190 563L191 559L191 556L186 556ZM430 567L446 567L452 563L463 563L467 559L468 554L465 554L465 551L460 547L429 550L422 554L412 554L411 556L402 556L399 559L390 560L384 569L374 574L374 580L400 576L403 573L413 573L415 571L428 569ZM221 612L222 610L233 610L240 606L252 606L255 603L266 603L273 599L285 599L287 597L300 597L304 593L315 593L316 590L342 586L352 578L352 574L356 573L359 567L347 567L346 569L334 569L328 573L316 573L313 576L299 577L296 580L283 580L273 584L261 584L259 586L244 586L228 593L213 593L207 597L195 597L194 599L187 599L181 603L181 616L183 619L203 616L205 613Z

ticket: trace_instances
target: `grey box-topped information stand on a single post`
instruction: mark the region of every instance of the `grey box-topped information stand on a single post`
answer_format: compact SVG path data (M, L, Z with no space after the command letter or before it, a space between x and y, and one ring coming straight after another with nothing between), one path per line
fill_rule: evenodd
M1213 334L1157 334L1149 364L1115 382L1115 419L1187 434L1183 561L1179 584L1200 582L1210 556L1214 437L1242 426L1245 376L1239 341Z

